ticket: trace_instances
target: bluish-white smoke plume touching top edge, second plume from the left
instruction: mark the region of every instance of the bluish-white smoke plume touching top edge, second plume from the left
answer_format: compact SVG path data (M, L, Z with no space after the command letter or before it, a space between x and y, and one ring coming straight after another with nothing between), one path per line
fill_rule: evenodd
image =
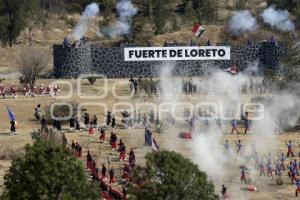
M138 12L131 0L119 1L116 8L119 16L117 21L102 30L102 33L110 38L130 34L131 19Z

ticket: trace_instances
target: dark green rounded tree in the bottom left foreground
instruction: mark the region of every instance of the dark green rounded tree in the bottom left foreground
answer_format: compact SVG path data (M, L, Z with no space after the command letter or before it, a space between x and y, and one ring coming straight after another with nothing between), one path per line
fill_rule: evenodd
M25 156L12 162L5 175L2 199L98 199L82 162L61 145L38 140L26 145Z

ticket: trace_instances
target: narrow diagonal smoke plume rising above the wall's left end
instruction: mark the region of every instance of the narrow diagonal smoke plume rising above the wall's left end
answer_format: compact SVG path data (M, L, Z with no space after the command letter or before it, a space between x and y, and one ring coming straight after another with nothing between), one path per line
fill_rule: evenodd
M82 13L78 24L73 30L71 37L74 40L80 40L87 32L91 20L98 15L100 12L99 5L97 3L91 3L86 6Z

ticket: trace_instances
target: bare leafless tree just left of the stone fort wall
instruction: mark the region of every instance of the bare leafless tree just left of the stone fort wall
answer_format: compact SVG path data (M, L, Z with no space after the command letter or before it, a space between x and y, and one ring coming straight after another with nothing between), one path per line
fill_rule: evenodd
M23 82L34 86L37 78L47 67L48 61L47 53L40 48L27 47L22 49L17 62Z

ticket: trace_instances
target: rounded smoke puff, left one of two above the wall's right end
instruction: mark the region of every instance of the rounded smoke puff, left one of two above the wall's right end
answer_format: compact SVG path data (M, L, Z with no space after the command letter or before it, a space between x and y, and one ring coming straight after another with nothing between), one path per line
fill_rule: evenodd
M236 12L229 20L228 25L233 36L240 36L245 32L257 29L256 19L248 10Z

